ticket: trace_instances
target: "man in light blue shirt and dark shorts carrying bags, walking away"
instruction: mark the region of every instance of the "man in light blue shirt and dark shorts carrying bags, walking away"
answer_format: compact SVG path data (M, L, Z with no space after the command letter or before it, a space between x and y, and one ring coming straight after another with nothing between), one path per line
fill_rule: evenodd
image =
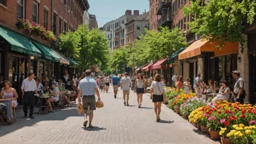
M89 128L92 128L93 111L96 110L95 93L97 94L98 100L100 100L100 92L97 89L97 84L92 79L92 71L85 71L85 78L79 82L78 97L79 103L81 102L81 96L83 98L84 108L84 127L87 127L87 111L89 110Z

